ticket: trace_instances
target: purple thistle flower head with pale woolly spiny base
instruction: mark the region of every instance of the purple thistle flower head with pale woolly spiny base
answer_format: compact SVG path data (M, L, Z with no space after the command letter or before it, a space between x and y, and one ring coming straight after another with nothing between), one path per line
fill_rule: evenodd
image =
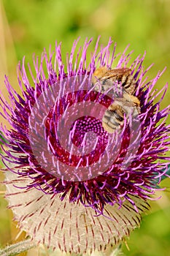
M44 51L40 63L34 58L35 76L28 65L31 80L23 59L18 65L22 96L5 79L11 105L1 97L1 115L12 126L1 127L7 140L2 146L6 197L20 228L37 244L107 255L139 226L147 200L166 175L169 107L161 110L160 104L167 85L157 93L162 72L148 80L152 65L144 71L144 56L138 56L129 66L127 48L115 65L111 40L101 49L97 41L87 64L91 39L76 53L77 41L66 67L61 45L49 57ZM101 120L114 97L94 91L91 78L96 67L113 66L131 68L141 110L136 118L125 118L121 132L109 134Z

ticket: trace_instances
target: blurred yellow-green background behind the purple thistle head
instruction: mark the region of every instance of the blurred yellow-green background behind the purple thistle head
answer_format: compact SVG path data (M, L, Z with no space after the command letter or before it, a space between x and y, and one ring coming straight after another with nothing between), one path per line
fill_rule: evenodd
M90 52L98 35L106 45L109 37L117 42L117 53L130 44L134 59L147 51L144 67L154 63L149 72L154 78L158 70L167 67L157 88L170 80L170 1L169 0L0 0L0 86L7 97L4 74L17 91L19 90L16 66L26 56L31 62L33 53L40 56L43 49L55 48L55 41L62 42L63 59L72 48L72 42L81 37L93 37ZM169 104L169 92L163 99L162 108ZM0 120L1 121L1 120ZM4 122L4 121L3 121ZM170 121L169 121L170 122ZM125 255L170 255L170 195L168 187L161 200L152 203L150 214L144 217L139 230L131 233L130 251L123 246ZM12 222L12 214L3 199L4 187L0 188L0 245L15 242L19 230ZM159 193L159 195L160 195ZM22 239L19 236L18 240ZM36 252L29 252L36 255Z

